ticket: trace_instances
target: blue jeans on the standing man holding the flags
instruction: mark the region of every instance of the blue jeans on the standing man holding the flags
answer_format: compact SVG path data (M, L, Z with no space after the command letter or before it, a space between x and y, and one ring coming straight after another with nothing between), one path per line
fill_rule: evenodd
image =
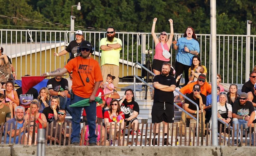
M79 97L74 94L74 99L72 99L71 103L76 103L80 100L86 98ZM71 133L71 140L72 143L80 142L80 121L81 121L81 111L83 107L73 107L72 108L72 133ZM97 135L95 134L96 129L96 102L92 101L90 106L84 107L86 111L86 117L89 126L89 143L96 143L97 142Z

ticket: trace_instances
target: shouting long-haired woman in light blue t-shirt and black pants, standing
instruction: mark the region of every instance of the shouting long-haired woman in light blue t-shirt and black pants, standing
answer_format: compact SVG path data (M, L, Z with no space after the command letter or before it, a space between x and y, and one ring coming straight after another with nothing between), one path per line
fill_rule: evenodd
M192 64L192 58L198 55L200 52L199 43L195 31L192 27L187 27L184 37L179 38L178 42L175 40L173 43L173 48L178 50L175 62L176 76L177 78L180 74L185 72L185 84L188 83L188 69ZM177 82L177 86L180 85L180 80Z

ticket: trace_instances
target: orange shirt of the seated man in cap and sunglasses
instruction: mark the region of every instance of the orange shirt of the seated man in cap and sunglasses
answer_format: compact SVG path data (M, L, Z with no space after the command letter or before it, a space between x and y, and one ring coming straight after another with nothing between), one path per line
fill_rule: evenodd
M197 81L196 82L192 82L190 84L187 84L185 85L184 87L182 87L180 89L180 92L182 94L189 94L189 93L192 93L193 92L193 87L194 85L197 85ZM212 93L212 86L208 83L208 82L205 82L203 86L201 86L201 94L207 96L207 93L211 94Z

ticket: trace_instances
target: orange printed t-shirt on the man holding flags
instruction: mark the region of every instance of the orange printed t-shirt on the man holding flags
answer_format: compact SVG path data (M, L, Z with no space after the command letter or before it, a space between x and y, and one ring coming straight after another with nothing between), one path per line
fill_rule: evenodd
M68 72L73 71L72 91L75 95L82 98L89 98L92 94L95 82L103 81L99 63L95 59L83 59L82 57L75 57L71 59L65 68ZM81 75L81 78L78 74ZM86 78L89 82L86 82Z

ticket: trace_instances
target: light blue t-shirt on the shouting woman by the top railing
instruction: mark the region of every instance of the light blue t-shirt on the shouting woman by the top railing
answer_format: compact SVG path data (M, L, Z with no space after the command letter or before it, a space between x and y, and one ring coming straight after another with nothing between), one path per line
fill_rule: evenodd
M176 60L184 65L191 66L192 64L192 58L193 54L185 52L184 47L187 47L189 50L196 50L198 53L200 53L200 47L199 43L195 39L187 40L186 37L179 38L177 45L178 48L178 54L176 56Z

